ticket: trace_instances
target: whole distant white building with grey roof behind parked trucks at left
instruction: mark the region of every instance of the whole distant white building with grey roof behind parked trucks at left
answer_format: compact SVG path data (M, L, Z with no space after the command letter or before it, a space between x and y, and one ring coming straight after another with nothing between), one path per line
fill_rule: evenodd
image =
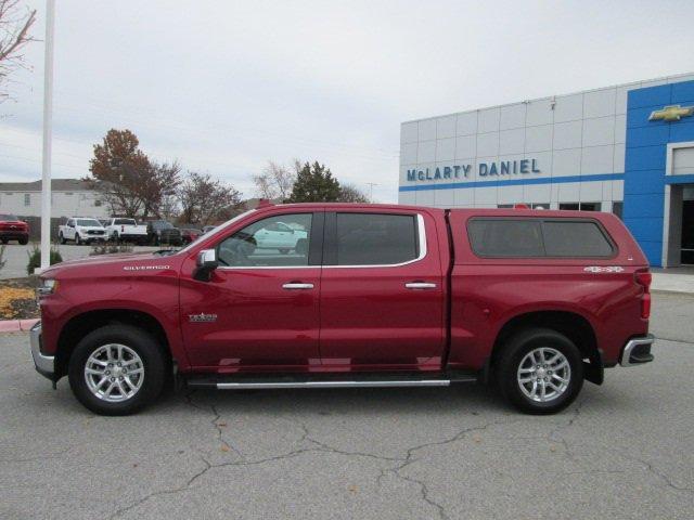
M79 179L51 180L51 213L61 217L110 217L99 192ZM41 216L41 181L0 182L0 213Z

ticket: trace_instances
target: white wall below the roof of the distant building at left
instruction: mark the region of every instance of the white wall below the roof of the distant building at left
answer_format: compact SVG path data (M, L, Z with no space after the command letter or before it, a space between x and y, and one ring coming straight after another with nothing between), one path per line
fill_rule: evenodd
M92 191L54 191L51 194L51 213L53 217L106 218L110 216L108 207L103 203L99 205L100 200L99 194ZM40 217L41 192L0 192L0 212Z

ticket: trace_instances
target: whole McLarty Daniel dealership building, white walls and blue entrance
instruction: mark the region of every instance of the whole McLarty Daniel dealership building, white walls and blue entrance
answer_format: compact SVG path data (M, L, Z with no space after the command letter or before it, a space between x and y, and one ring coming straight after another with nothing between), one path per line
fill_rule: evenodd
M399 203L612 211L694 264L694 74L403 122Z

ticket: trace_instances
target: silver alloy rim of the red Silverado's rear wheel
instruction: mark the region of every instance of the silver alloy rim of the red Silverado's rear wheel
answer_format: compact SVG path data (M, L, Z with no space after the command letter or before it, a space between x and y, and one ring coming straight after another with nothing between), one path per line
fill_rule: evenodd
M538 403L562 395L571 380L571 367L558 350L540 347L528 352L518 366L518 386Z

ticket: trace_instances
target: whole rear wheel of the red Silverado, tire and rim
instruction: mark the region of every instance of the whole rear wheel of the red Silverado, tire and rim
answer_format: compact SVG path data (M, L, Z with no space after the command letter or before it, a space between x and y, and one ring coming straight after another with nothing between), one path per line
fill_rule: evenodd
M583 386L578 348L563 334L531 328L511 338L497 365L501 393L530 414L553 414L568 406Z

